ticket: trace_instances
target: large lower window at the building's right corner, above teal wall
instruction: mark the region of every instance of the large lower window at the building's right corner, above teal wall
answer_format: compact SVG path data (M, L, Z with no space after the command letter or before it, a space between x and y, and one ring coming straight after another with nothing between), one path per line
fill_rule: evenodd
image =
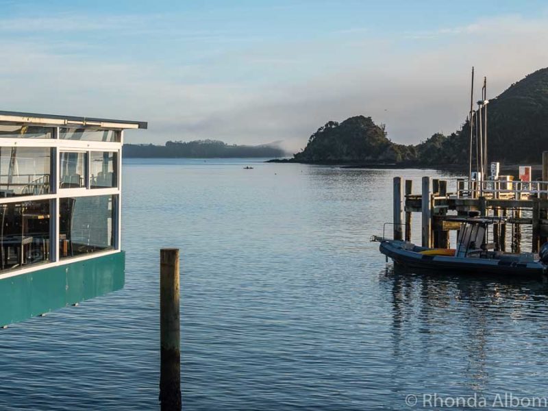
M114 249L115 197L60 199L60 258Z

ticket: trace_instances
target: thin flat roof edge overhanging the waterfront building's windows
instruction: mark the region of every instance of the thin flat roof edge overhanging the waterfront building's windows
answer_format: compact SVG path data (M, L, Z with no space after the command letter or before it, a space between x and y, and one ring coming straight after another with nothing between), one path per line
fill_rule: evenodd
M36 114L7 112L0 110L0 124L45 125L50 127L90 127L95 129L147 129L145 121L95 119L92 117L58 116L56 114Z

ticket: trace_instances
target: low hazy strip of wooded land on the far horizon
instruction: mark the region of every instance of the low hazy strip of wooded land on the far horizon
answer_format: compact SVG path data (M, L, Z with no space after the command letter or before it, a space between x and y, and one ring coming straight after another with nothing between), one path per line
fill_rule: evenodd
M228 145L218 140L168 141L165 145L126 144L125 158L280 158L287 153L279 142L265 145Z

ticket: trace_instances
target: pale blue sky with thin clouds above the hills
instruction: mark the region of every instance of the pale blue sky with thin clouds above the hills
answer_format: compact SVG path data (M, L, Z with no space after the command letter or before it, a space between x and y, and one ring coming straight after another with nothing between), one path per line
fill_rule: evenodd
M0 110L148 121L125 142L282 140L371 116L416 144L548 66L545 1L0 0ZM479 88L477 89L479 98Z

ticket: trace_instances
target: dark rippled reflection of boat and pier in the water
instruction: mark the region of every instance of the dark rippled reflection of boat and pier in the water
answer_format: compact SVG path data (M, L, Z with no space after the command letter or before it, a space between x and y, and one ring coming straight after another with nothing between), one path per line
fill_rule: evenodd
M521 345L524 333L546 344L546 334L534 331L548 317L545 282L415 274L390 264L380 271L379 284L392 305L399 375L421 378L416 368L428 366L446 390L484 393L497 384L499 358L508 360L505 352Z

